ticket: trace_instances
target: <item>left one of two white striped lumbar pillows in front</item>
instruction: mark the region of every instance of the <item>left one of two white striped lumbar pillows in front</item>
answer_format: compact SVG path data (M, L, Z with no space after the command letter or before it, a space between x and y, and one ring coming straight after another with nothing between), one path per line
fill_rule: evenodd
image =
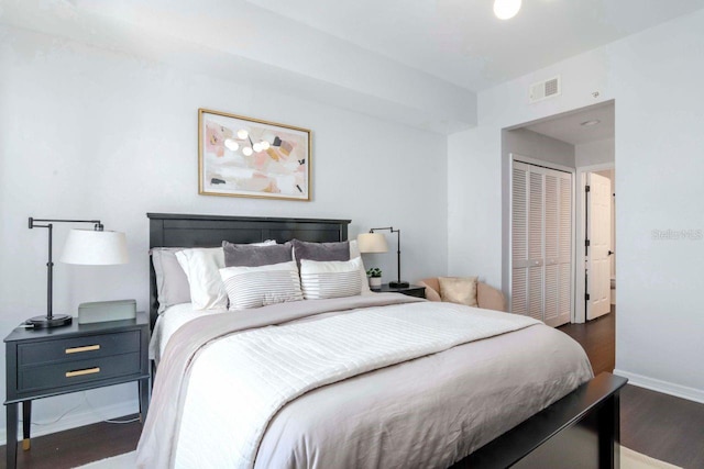
M220 277L230 311L304 299L295 260L261 267L226 267L220 269Z

